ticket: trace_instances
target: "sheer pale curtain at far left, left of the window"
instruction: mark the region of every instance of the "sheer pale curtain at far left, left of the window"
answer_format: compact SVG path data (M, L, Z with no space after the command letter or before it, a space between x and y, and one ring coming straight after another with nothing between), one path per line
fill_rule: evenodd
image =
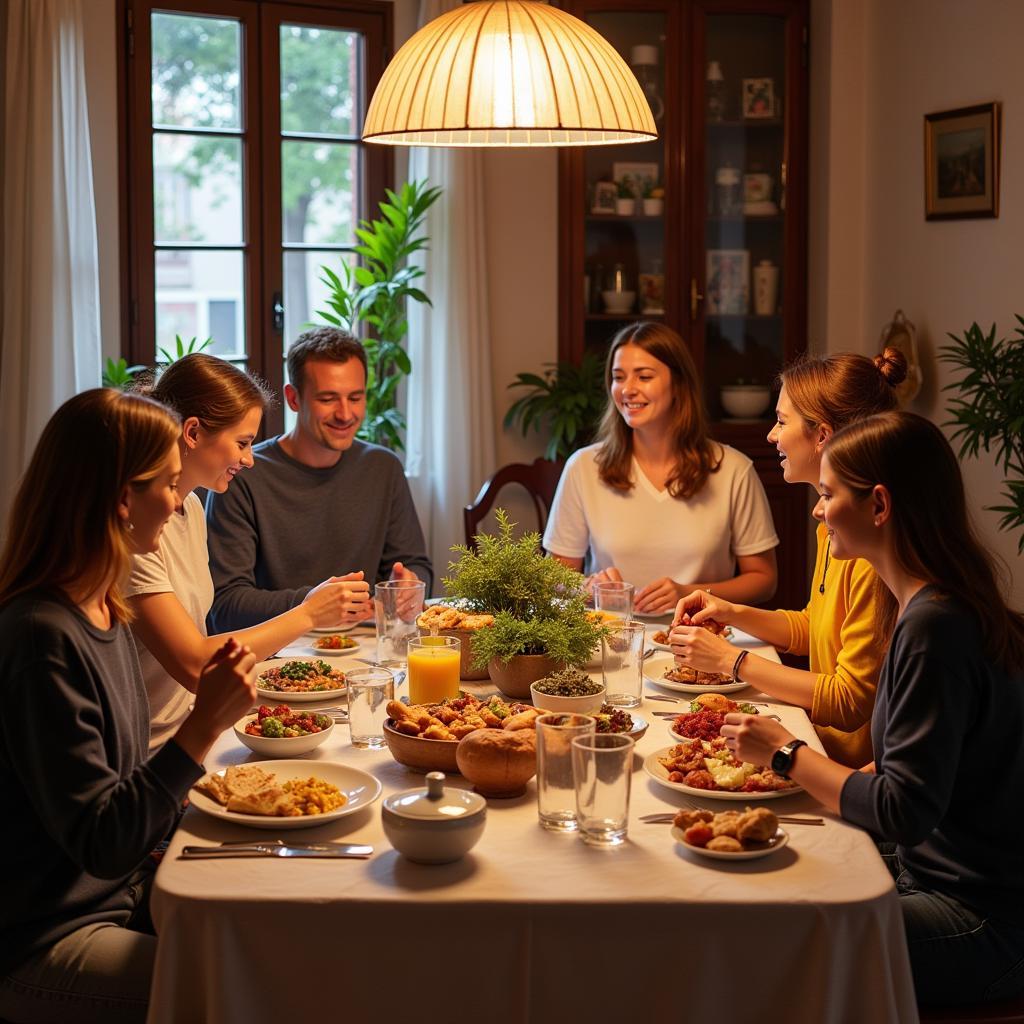
M84 7L7 0L0 536L43 425L100 383Z

